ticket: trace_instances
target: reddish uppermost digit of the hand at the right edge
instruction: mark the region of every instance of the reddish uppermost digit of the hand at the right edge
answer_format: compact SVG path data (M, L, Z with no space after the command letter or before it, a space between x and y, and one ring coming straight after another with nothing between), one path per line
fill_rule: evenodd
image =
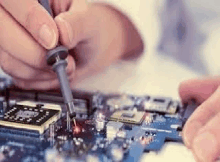
M196 99L197 102L202 103L217 89L219 85L219 77L184 81L179 86L179 94L183 103L192 98Z

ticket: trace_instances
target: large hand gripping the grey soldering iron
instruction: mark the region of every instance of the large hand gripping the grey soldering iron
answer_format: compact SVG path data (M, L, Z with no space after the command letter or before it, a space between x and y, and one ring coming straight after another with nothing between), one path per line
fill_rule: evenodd
M58 40L69 48L71 85L143 49L139 34L119 11L85 0L50 0L55 19L36 0L0 1L0 65L25 89L59 87L46 64L46 49Z

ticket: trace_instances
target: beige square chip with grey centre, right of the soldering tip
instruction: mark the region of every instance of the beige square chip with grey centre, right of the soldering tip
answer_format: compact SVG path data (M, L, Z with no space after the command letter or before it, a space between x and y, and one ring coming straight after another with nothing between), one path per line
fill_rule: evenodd
M145 116L145 112L143 111L128 111L128 110L121 110L114 112L110 120L119 121L122 123L129 123L129 124L141 124Z

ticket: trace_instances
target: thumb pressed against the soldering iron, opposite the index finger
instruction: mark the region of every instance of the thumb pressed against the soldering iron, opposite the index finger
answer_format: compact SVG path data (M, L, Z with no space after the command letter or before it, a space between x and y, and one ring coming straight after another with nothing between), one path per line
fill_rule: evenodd
M60 32L60 41L64 46L73 48L79 41L85 39L87 9L85 0L75 0L67 12L55 18Z

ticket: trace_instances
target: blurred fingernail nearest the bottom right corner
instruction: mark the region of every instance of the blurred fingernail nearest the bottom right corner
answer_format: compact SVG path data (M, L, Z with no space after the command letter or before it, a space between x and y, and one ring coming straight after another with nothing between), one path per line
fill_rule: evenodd
M215 154L217 141L214 135L209 132L203 133L196 137L193 142L194 152L200 161L212 161L212 155Z

